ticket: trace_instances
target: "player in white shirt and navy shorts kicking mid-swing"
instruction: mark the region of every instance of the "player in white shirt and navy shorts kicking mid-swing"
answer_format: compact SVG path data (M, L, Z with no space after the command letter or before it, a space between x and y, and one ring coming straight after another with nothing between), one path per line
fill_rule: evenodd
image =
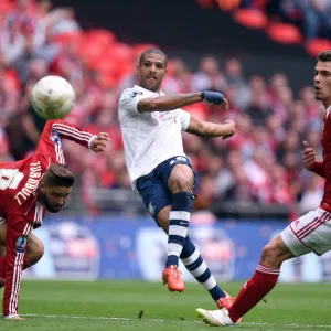
M169 235L163 284L170 291L184 290L178 267L181 258L220 303L226 292L217 286L188 235L194 172L183 151L181 132L226 139L234 135L235 124L204 122L180 108L206 102L227 110L227 102L216 92L164 95L160 87L167 74L167 55L159 50L145 51L137 71L138 85L125 89L120 96L119 122L132 190L141 195L152 217Z

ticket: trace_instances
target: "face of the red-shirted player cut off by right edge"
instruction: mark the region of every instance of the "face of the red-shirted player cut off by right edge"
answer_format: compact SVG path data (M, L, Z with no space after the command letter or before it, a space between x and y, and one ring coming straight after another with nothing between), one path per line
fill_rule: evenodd
M313 83L316 98L330 106L328 103L331 102L331 62L317 63Z

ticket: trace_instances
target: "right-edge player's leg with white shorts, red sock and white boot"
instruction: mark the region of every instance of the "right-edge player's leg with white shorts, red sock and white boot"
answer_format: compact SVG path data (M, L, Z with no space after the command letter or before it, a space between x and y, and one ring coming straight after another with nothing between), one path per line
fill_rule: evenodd
M282 261L310 252L322 255L330 249L331 214L321 209L309 212L292 222L280 236L264 247L254 276L242 288L231 308L222 312L197 312L211 324L233 324L275 287Z

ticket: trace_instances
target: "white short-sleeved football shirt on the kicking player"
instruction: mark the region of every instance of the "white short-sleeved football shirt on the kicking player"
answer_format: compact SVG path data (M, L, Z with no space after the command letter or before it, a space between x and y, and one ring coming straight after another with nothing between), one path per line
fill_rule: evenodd
M161 95L164 94L135 85L134 88L125 89L119 99L119 124L134 191L138 178L150 173L169 158L185 156L181 131L189 127L188 111L138 111L137 105L140 99Z

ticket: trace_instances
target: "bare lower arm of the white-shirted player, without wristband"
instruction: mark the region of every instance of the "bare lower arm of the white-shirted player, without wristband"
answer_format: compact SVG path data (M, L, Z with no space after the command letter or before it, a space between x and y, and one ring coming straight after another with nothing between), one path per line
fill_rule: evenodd
M191 116L185 131L201 137L223 137L223 139L226 139L235 134L235 122L227 119L221 124L214 124Z

